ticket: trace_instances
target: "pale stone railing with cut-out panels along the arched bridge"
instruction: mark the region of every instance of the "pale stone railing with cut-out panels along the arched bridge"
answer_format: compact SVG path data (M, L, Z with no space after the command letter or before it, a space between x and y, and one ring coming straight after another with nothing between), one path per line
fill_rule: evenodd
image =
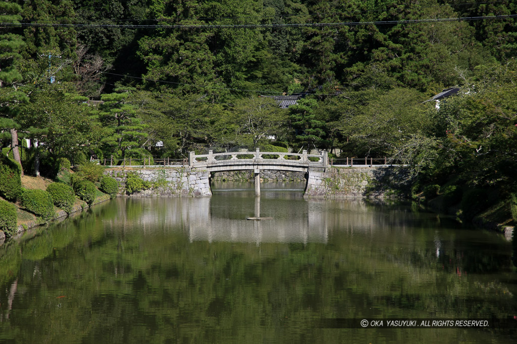
M201 167L223 162L279 162L282 160L325 167L328 166L328 153L307 154L307 151L302 151L302 153L261 152L258 148L255 152L214 153L208 151L208 154L189 152L188 165L190 167Z

